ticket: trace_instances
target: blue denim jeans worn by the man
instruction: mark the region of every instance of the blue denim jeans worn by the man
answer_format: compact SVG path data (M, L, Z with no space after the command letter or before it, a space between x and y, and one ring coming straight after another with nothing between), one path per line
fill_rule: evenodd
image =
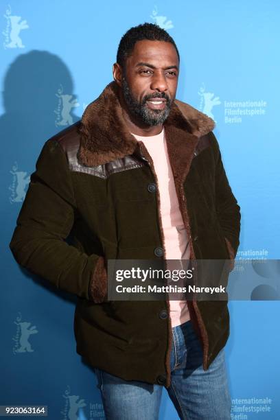
M167 392L180 419L230 420L224 349L204 371L202 346L191 321L173 327L172 334L171 385ZM97 368L95 374L106 419L159 419L163 386L122 380Z

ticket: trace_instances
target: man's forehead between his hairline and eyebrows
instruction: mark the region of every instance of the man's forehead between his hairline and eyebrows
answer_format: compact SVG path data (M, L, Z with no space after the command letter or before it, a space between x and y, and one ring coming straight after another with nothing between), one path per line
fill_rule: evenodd
M148 62L153 65L176 65L178 55L172 43L157 40L139 40L135 43L132 54L127 58L126 64L135 66L137 62Z

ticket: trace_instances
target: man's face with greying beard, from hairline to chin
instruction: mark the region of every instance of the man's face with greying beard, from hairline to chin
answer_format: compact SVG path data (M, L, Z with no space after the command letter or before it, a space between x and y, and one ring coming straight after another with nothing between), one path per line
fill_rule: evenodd
M163 124L176 95L178 69L172 43L137 41L121 78L128 111L147 126Z

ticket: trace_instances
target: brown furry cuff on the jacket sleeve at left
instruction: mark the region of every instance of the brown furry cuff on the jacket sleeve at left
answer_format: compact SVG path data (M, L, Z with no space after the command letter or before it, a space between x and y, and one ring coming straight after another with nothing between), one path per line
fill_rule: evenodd
M104 257L100 256L95 264L95 269L89 284L89 299L95 303L107 301L108 275Z

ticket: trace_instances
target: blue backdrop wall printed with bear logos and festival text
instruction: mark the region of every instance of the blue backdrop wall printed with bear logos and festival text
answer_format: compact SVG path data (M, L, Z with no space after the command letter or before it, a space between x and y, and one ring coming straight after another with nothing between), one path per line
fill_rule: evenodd
M237 259L279 258L279 19L276 0L1 1L0 405L104 418L93 370L75 352L76 297L19 267L8 245L43 144L113 80L130 27L170 33L181 58L177 98L215 120L242 209ZM279 301L231 301L229 310L232 419L279 419ZM166 390L160 419L178 419Z

